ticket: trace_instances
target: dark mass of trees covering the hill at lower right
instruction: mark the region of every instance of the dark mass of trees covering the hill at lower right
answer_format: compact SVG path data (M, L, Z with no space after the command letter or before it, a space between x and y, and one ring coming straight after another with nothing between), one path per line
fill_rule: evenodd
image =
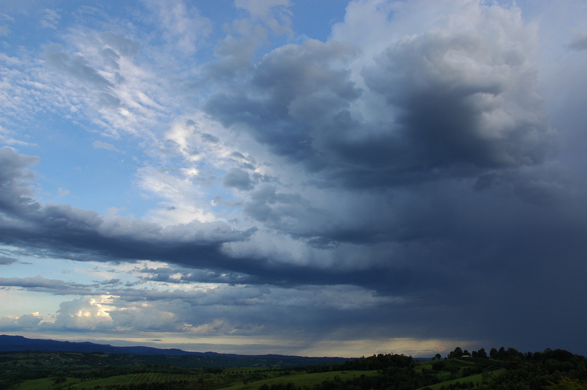
M469 364L451 358L468 356ZM521 353L514 348L491 348L487 354L483 348L471 354L461 348L440 360L434 357L432 370L417 371L411 357L403 355L373 355L342 365L334 365L329 371L341 369L377 369L378 375L360 375L351 379L335 377L315 386L297 386L294 383L262 385L259 390L342 390L342 389L392 389L408 390L426 388L447 379L453 382L440 390L585 390L587 389L587 360L565 350L546 349L543 352ZM464 360L464 359L463 359ZM471 365L472 364L472 365ZM383 367L386 366L386 367ZM342 368L346 367L346 368ZM322 367L324 371L326 367ZM448 371L450 375L441 374ZM472 381L470 375L481 374L481 382Z

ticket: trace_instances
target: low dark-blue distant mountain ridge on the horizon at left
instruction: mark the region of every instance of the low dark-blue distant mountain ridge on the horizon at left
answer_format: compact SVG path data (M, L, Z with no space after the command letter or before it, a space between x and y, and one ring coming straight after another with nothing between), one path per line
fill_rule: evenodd
M222 357L222 358L270 358L270 359L316 359L323 360L324 357L301 357L291 355L237 355L221 354L218 352L190 352L178 350L177 348L154 348L154 347L114 347L110 344L96 344L95 342L83 341L56 341L45 340L41 338L26 338L22 336L0 335L0 352L8 351L43 351L43 352L102 352L105 354L133 354L133 355L197 355L205 357ZM349 358L332 357L329 359L340 360L344 362Z

